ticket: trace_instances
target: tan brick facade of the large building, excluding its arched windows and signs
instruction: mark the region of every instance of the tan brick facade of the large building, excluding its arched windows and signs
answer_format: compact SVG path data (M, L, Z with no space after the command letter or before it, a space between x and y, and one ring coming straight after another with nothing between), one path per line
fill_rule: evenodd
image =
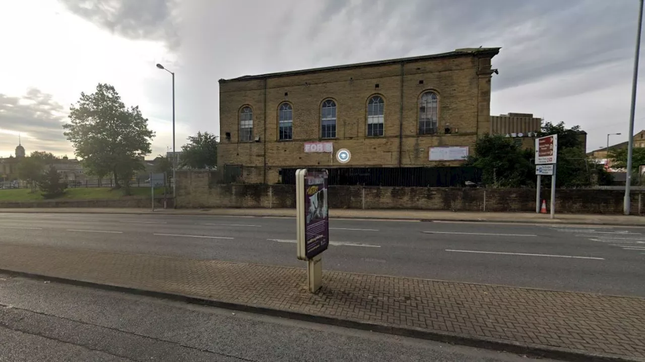
M490 131L490 68L489 53L221 82L219 166L259 167L261 173L245 181L270 184L277 182L272 168L338 166L330 153L303 151L304 142L321 140L321 104L326 99L337 104L337 138L325 141L333 142L335 150L352 151L347 166L399 166L399 160L401 166L432 166L437 161L428 160L430 147L471 146L477 135ZM418 100L429 90L439 95L439 133L419 136ZM372 95L385 101L382 137L366 135ZM293 107L293 140L279 140L283 102ZM253 110L253 137L259 136L259 142L239 142L243 106ZM445 135L446 127L453 133Z

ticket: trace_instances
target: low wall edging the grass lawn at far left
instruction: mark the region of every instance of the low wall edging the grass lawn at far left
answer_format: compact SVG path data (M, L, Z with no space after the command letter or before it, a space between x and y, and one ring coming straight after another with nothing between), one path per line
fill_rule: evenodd
M172 197L166 200L166 207L172 207ZM163 197L155 198L155 207L162 208ZM41 201L3 201L0 202L0 209L14 207L123 207L123 208L146 208L152 207L150 197L132 197L105 200L41 200Z

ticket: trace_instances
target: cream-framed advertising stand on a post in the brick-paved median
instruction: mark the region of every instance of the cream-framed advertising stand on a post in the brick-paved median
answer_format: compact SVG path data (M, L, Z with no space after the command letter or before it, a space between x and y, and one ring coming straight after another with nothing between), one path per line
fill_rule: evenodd
M309 291L323 286L321 253L329 246L327 170L295 171L297 258L307 262Z

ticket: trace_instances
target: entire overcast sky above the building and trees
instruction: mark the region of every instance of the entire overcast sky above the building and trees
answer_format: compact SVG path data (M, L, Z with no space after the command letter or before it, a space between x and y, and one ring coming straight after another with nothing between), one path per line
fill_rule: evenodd
M580 125L590 151L607 133L627 139L637 12L638 0L3 1L0 157L18 134L27 153L74 155L61 124L98 82L140 106L152 156L164 153L172 88L157 62L177 73L179 149L197 131L219 134L218 79L478 46L502 47L491 114Z

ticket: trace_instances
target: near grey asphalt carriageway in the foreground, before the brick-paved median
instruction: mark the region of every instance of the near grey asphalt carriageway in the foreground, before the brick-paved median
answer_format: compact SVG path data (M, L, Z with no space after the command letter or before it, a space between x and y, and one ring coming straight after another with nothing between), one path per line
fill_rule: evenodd
M0 274L0 362L532 360Z

